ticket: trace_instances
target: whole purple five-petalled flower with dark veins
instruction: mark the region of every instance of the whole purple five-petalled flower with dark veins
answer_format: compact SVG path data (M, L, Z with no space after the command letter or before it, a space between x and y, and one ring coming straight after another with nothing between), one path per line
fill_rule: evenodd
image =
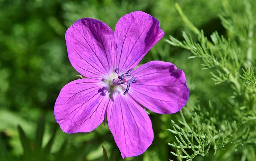
M135 68L164 36L159 21L141 11L124 15L115 33L105 23L83 18L67 30L72 66L85 79L65 85L54 115L65 133L90 132L105 117L122 157L142 154L153 141L149 116L180 111L189 90L182 70L151 61Z

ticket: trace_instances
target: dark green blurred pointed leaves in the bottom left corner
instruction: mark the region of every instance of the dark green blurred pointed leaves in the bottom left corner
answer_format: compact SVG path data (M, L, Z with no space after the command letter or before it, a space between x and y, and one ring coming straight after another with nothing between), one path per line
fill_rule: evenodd
M83 160L81 158L84 157L85 153L82 151L84 148L75 148L72 147L75 153L67 153L66 147L67 147L67 141L64 141L58 151L55 153L51 153L51 148L53 145L53 140L55 138L56 130L52 132L52 136L50 140L47 142L45 146L42 146L43 143L43 134L45 130L45 124L44 124L44 118L40 118L37 125L37 131L34 138L34 143L31 141L23 131L23 129L18 125L18 131L20 135L20 142L23 147L23 155L19 157L15 157L10 155L10 153L7 152L7 148L2 142L2 139L0 138L0 147L1 149L1 159L5 161L12 161L12 160L38 160L38 161L47 161L47 160ZM104 156L106 155L106 150L104 153ZM106 160L106 159L105 159Z

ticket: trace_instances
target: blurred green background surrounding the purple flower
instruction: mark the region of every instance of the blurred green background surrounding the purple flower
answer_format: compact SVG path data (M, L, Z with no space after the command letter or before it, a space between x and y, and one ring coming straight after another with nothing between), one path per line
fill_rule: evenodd
M215 96L219 91L226 90L225 84L214 88L209 70L201 70L200 59L187 59L191 56L190 52L164 41L168 35L182 40L182 31L191 33L177 14L175 2L196 27L204 30L205 36L215 30L227 35L218 18L221 0L0 0L0 133L8 155L20 159L24 152L17 125L33 142L37 122L43 117L46 123L43 147L56 129L48 160L56 160L61 147L63 149L59 154L65 156L61 160L102 160L101 146L106 148L110 158L115 155L116 160L121 160L107 125L101 124L91 133L66 134L53 115L54 103L61 88L78 79L75 75L79 73L68 60L64 36L66 29L83 17L101 20L113 30L119 18L132 11L140 10L156 17L165 36L141 63L151 60L174 63L186 74L189 103L200 99L204 105L210 99L218 105L221 100ZM236 11L243 10L238 0L230 1L230 4ZM229 92L227 90L226 94ZM144 154L125 160L175 160L169 153L175 149L167 145L173 142L174 137L166 129L172 126L170 119L175 120L178 115L152 113L150 118L155 134L152 145ZM65 146L62 146L63 143ZM209 154L209 160L212 160L211 156ZM197 159L202 160L200 157Z

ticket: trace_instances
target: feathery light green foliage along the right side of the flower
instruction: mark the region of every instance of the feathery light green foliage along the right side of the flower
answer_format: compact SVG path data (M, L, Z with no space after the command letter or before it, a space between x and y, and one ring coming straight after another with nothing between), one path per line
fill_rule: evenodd
M213 148L214 155L218 149L221 150L218 155L223 160L226 156L228 160L234 160L237 151L241 153L242 160L255 160L255 152L249 149L255 150L256 145L254 137L256 90L246 83L249 82L254 86L256 79L252 67L250 70L242 68L252 65L252 53L255 51L253 45L255 22L252 16L255 11L252 10L251 3L244 1L246 10L235 14L228 2L224 1L224 11L219 15L220 19L223 26L238 39L225 38L216 31L210 35L210 41L204 36L203 30L200 32L188 20L178 4L175 7L184 23L197 36L198 42L187 36L185 32L182 32L184 41L179 41L173 36L165 41L189 50L193 56L188 59L200 58L203 62L201 63L203 70L213 69L210 73L215 85L225 82L228 87L226 90L232 90L233 94L227 95L218 107L213 108L212 103L209 102L209 105L204 107L207 110L203 110L200 105L187 105L184 109L186 115L183 115L184 110L182 110L181 120L178 120L178 123L172 120L173 129L168 129L176 135L176 141L168 144L177 149L176 153L171 151L171 154L178 160L190 161L197 155L206 156ZM237 21L239 16L243 17L242 22ZM221 92L220 90L219 93ZM222 99L220 96L216 97Z

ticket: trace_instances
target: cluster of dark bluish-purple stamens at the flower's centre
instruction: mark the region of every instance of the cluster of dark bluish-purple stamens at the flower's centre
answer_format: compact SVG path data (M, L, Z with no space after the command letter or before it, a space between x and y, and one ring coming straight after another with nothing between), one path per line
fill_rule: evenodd
M122 84L127 82L127 87L126 87L126 90L124 91L124 95L127 94L128 90L130 88L130 82L131 83L136 83L137 82L136 78L134 76L131 76L131 74L130 74L133 70L134 69L131 68L126 73L124 73L120 76L119 75L119 68L115 69L115 73L118 74L118 78L113 79L112 83L114 85L122 85Z

